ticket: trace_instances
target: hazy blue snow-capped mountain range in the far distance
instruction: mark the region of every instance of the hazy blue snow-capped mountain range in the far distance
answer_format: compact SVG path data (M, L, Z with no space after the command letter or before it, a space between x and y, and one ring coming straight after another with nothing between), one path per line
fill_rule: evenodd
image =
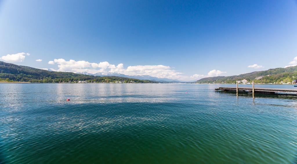
M140 80L151 80L151 81L159 81L159 82L180 82L176 79L168 79L168 78L157 78L149 75L124 75L120 73L108 73L107 75L103 75L102 73L88 73L88 72L77 72L78 74L84 74L84 75L93 75L93 76L120 76L120 77L126 77L126 78L135 78Z

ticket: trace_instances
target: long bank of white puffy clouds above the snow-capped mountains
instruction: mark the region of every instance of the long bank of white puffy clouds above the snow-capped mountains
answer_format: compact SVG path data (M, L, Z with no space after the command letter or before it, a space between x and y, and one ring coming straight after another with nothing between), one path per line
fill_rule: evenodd
M58 64L58 70L61 72L88 72L101 73L107 75L109 73L120 73L124 75L149 75L157 78L178 79L181 81L198 80L200 78L218 76L226 72L220 70L211 70L207 75L192 75L185 76L183 73L174 70L172 67L165 65L136 65L124 67L124 64L110 64L107 61L100 63L91 63L88 61L75 61L70 59L54 59L49 61L49 64Z

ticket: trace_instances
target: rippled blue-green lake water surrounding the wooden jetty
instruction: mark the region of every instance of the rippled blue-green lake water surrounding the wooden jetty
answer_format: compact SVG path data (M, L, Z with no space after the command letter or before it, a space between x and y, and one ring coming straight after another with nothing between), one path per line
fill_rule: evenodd
M297 97L219 86L0 83L0 163L297 162Z

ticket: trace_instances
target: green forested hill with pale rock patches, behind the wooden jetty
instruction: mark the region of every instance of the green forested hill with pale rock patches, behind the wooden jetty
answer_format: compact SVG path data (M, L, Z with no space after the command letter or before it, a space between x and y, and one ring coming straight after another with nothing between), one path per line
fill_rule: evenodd
M266 71L255 71L234 76L217 76L202 78L196 83L236 83L237 80L246 79L255 83L284 83L292 82L297 78L297 66L287 68L274 68Z

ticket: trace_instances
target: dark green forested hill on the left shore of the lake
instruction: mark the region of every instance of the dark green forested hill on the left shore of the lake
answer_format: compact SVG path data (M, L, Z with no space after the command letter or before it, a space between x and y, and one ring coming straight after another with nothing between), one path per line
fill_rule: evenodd
M37 68L20 66L16 64L5 63L0 61L0 81L25 81L25 82L40 82L40 83L59 83L69 81L87 81L87 82L115 82L124 81L129 83L157 83L150 80L139 80L133 78L125 78L118 76L92 76L76 74L73 72L51 72Z

